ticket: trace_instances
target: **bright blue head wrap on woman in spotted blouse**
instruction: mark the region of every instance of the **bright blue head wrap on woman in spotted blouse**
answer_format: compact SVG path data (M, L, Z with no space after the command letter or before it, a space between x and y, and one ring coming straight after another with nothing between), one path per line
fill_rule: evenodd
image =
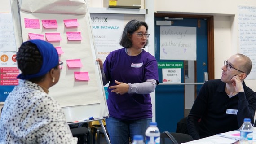
M54 48L53 44L48 43L44 40L30 40L31 43L35 44L41 53L43 63L40 71L36 74L19 74L18 79L31 79L43 76L48 73L52 68L56 67L59 63L59 55Z

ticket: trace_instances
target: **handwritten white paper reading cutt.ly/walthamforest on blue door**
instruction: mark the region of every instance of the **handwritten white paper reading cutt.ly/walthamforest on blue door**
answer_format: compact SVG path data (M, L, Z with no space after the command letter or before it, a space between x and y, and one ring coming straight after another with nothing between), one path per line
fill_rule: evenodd
M160 59L196 61L196 27L160 26Z

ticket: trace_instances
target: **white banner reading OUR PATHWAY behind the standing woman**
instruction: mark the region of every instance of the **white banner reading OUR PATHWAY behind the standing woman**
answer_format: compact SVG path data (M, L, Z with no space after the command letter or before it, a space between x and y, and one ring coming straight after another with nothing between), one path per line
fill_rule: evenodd
M110 52L121 48L119 41L124 30L124 15L92 13L90 16L98 58L105 61Z

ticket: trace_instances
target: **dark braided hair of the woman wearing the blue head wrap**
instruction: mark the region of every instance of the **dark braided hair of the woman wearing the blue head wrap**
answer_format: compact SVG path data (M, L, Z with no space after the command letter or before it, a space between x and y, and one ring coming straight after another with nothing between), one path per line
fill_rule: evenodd
M30 41L22 43L18 49L16 60L18 68L24 75L38 73L43 65L43 57L40 51L37 46ZM57 66L54 69L57 69ZM31 82L40 82L44 80L45 75L46 74L28 80Z

